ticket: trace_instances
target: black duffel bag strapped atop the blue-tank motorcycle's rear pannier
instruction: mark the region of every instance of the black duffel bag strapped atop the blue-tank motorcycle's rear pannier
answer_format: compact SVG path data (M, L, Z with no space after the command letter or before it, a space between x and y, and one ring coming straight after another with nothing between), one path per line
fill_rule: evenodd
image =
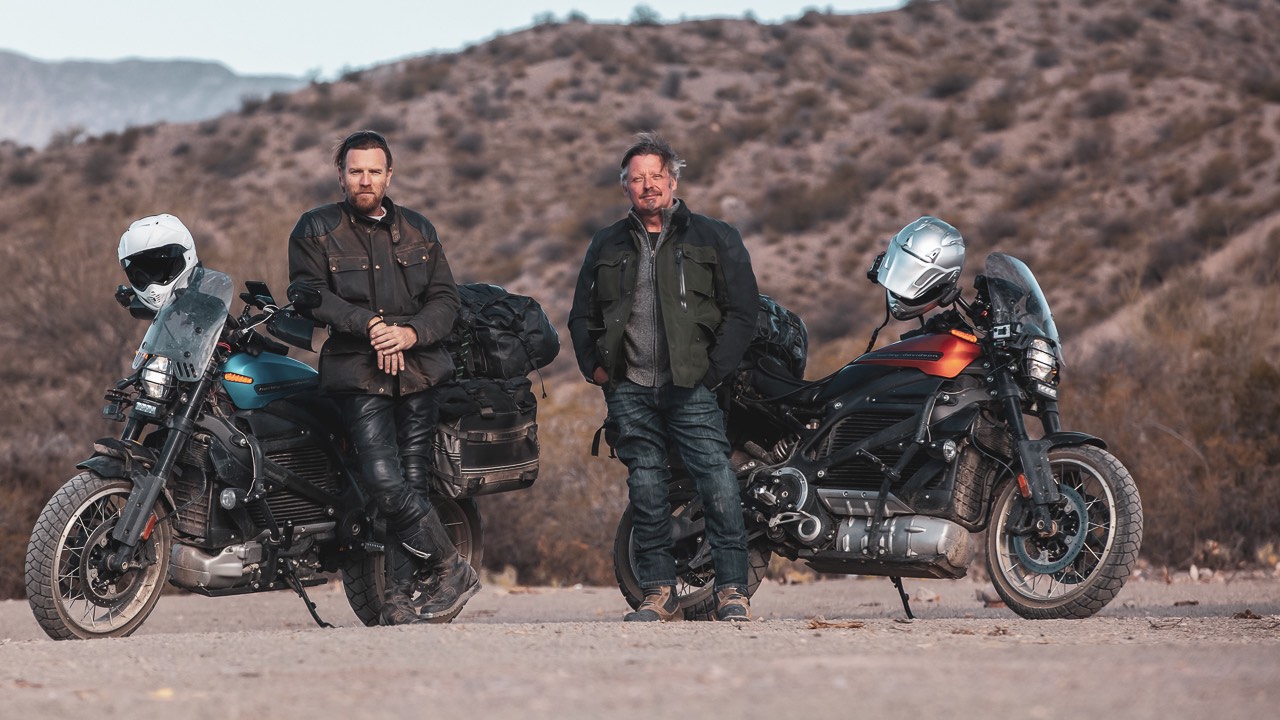
M559 333L532 297L488 283L458 286L458 319L444 345L460 378L522 378L559 352Z

